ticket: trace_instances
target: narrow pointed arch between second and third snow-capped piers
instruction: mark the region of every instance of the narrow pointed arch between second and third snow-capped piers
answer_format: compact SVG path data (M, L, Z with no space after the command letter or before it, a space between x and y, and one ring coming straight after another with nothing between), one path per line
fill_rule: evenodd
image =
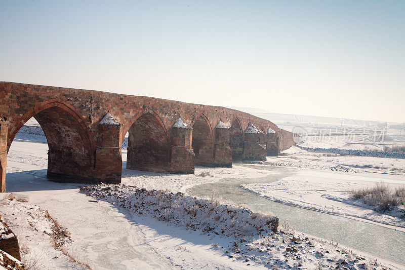
M192 125L191 147L195 153L196 165L210 165L214 157L214 139L210 121L201 113Z

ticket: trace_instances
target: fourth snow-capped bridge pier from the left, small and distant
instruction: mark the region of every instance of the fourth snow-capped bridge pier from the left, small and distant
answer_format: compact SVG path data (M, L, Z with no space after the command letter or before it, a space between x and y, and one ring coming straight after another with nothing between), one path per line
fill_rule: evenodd
M266 161L266 140L263 132L249 124L244 134L244 160Z

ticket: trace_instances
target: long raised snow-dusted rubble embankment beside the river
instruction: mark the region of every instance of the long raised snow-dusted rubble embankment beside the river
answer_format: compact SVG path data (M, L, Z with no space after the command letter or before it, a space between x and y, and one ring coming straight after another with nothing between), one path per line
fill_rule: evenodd
M278 218L249 209L221 205L206 199L162 190L139 189L124 184L80 187L88 196L203 233L232 236L265 236L277 232Z

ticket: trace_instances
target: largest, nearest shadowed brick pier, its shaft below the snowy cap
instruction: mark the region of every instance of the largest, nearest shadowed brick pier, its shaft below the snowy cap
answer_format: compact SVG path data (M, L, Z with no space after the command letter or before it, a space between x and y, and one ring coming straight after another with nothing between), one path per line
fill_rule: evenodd
M103 183L120 183L123 171L121 157L120 125L99 124L94 180Z

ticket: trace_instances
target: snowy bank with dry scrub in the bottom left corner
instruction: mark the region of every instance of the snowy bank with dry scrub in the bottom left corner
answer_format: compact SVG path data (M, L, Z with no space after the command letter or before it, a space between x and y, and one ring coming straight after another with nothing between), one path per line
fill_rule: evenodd
M48 211L30 205L21 195L6 194L0 201L3 218L13 228L27 269L88 269L71 258L65 247L69 233Z

